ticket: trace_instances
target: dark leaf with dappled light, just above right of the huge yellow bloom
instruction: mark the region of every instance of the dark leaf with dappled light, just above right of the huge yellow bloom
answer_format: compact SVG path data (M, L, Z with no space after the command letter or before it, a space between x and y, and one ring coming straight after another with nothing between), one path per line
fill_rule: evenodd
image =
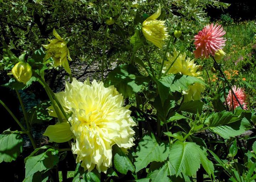
M148 84L149 77L141 75L133 65L120 65L108 74L105 84L114 85L125 97L139 92L143 85Z

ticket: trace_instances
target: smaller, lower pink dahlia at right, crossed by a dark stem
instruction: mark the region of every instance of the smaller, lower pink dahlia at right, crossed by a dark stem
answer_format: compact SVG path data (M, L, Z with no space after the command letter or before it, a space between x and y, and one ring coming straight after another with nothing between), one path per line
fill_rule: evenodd
M238 98L240 104L243 106L243 108L247 109L247 105L246 105L246 102L245 102L246 95L245 95L244 89L242 89L240 87L236 88L236 86L234 85L234 86L232 86L232 90L235 92L235 95ZM227 102L228 102L229 109L231 110L232 109L231 90L229 90L229 94L228 94L228 97L227 97ZM239 106L239 103L236 100L234 95L233 95L233 103L234 103L234 109Z

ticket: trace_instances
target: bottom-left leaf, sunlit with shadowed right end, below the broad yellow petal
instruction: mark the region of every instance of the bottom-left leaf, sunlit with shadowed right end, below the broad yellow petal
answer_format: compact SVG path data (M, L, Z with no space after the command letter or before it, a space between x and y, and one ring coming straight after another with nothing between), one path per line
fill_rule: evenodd
M25 177L33 175L36 172L46 171L54 167L59 162L59 152L55 149L48 149L42 154L28 157L26 161Z

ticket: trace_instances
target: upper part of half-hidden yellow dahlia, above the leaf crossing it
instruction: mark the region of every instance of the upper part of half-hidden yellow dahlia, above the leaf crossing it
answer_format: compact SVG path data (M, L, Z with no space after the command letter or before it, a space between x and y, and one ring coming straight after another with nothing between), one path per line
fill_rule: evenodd
M166 54L166 57L168 61L164 62L164 67L162 69L162 73L165 73L165 71L169 68L169 66L172 64L172 62L175 60L177 55L180 52L177 51L174 48L173 55L170 53ZM194 63L194 59L190 60L190 58L186 59L186 54L181 53L174 64L171 66L171 69L168 71L169 74L177 74L180 73L182 75L188 75L188 76L199 76L201 75L201 71L198 71L199 65Z

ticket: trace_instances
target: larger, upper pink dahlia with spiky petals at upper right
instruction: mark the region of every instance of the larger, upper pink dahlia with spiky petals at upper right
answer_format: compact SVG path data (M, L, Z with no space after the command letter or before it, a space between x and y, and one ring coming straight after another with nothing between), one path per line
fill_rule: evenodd
M209 55L214 56L215 52L225 45L226 39L222 37L225 33L221 25L216 24L213 26L212 23L205 26L203 30L194 36L194 45L196 45L195 57L208 58Z

